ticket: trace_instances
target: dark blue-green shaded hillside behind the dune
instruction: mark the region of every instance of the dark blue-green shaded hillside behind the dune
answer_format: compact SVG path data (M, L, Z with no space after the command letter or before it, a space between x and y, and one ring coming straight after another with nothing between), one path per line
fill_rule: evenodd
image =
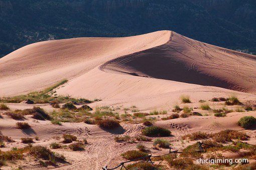
M0 57L37 41L155 30L256 52L255 0L0 0Z

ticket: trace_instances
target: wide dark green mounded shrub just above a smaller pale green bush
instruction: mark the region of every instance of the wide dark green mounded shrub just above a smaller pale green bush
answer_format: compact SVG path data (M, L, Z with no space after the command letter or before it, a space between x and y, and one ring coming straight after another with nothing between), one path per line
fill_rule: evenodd
M146 136L170 136L171 131L163 127L150 126L144 128L142 134Z

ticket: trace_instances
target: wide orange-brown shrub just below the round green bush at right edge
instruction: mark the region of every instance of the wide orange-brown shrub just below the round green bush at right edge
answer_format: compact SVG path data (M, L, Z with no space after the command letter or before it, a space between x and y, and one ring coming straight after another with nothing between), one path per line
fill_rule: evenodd
M240 140L247 140L248 135L246 135L244 132L240 132L237 130L232 130L232 129L226 129L226 130L221 130L219 132L211 134L211 137L213 140L217 142L230 142L232 139L240 139Z

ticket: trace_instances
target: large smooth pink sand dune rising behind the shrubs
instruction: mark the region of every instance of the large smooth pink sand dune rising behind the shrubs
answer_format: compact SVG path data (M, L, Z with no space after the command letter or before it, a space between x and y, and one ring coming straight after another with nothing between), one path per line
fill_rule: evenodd
M60 95L150 109L171 105L183 93L196 100L234 92L224 88L255 93L255 64L254 55L167 30L120 38L51 40L0 59L0 96L40 90L67 78L69 82L57 89Z

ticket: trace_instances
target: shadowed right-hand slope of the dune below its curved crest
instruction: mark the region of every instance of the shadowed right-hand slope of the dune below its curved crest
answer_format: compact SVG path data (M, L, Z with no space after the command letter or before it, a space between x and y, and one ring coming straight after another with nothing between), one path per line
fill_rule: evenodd
M254 55L210 45L172 32L167 43L115 58L100 68L106 72L255 93L255 65Z

